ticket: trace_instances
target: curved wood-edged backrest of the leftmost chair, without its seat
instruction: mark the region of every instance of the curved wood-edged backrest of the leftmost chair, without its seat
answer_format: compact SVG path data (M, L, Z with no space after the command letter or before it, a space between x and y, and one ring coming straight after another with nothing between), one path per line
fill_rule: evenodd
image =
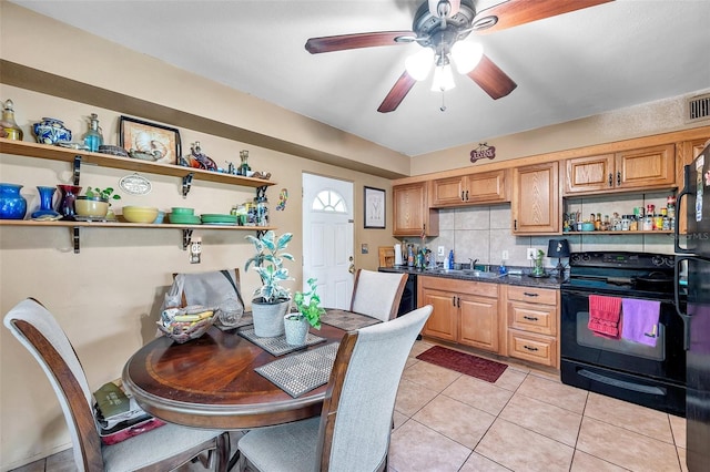
M92 394L69 338L39 301L20 301L4 326L40 363L62 407L80 471L103 471L101 441L91 412Z

